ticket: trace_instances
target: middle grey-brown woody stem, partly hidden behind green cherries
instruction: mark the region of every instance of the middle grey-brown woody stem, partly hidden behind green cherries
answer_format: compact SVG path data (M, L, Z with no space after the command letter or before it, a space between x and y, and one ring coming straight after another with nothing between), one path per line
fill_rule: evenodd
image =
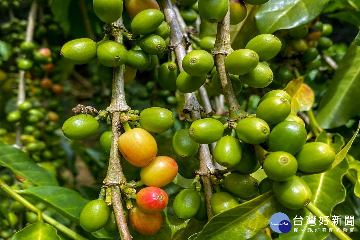
M174 13L174 9L172 8L172 4L170 0L161 0L161 5L163 7L164 15L166 18L166 22L169 24L170 31L170 48L173 48L175 51L177 63L179 65L180 71L183 71L183 66L181 65L181 61L186 55L186 40L184 38L183 33L180 30L179 22L176 19L176 15ZM195 93L185 94L185 105L184 105L184 113L190 113L190 117L192 119L200 119L201 118L201 110L198 100L196 99ZM199 161L200 161L200 172L201 172L201 180L205 191L206 196L206 208L207 208L207 217L210 219L213 216L210 199L212 194L214 193L214 189L210 178L208 176L209 170L210 173L215 172L215 167L212 163L210 157L209 146L206 144L199 145Z

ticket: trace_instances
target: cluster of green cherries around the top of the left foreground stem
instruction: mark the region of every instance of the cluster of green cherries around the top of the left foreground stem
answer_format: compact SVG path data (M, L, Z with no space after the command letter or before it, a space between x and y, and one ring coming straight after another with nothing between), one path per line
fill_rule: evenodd
M95 14L111 26L121 17L123 2L93 1ZM112 14L108 12L112 10ZM106 26L107 26L106 25ZM109 27L111 29L112 27ZM96 43L91 39L76 39L67 42L60 55L73 64L86 64L99 59L98 76L106 83L112 83L112 67L125 65L125 83L134 79L137 70L151 71L158 64L158 55L166 49L165 40L170 35L170 28L164 21L164 15L158 9L146 9L137 13L131 22L132 34L126 34L130 44L127 50L122 44L109 40L106 34L104 40ZM111 31L118 35L116 30Z

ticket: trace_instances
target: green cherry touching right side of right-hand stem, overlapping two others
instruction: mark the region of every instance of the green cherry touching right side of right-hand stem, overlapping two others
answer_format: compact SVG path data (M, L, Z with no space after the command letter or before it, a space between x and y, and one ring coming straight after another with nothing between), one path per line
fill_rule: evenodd
M250 49L233 51L225 59L225 69L234 75L243 75L253 71L259 63L259 57Z

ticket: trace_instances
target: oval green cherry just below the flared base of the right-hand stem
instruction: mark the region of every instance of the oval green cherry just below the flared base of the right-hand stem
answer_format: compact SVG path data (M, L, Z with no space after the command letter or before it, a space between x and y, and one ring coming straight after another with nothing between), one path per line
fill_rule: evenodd
M270 128L260 118L245 118L236 125L236 133L243 142L260 144L269 138Z

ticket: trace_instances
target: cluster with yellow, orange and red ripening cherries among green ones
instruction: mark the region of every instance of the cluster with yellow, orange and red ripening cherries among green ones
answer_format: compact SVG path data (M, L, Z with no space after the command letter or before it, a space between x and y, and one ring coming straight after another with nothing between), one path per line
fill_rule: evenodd
M96 110L82 105L78 105L78 108L83 108L80 110L87 110L88 112L69 118L62 128L64 135L72 140L86 139L94 135L99 129L99 123L96 119L98 117L94 118L89 113L90 111L94 113ZM100 112L99 116L102 115L103 112ZM174 115L168 109L153 107L144 109L139 116L133 115L127 120L129 121L122 122L125 132L120 135L117 141L123 161L126 162L123 163L123 166L131 164L134 167L141 167L140 181L137 182L137 185L147 186L136 194L136 206L129 209L129 221L139 233L153 234L162 226L160 212L165 209L168 202L166 193L160 187L174 180L178 166L175 160L170 157L157 156L157 143L151 133L168 131L174 124ZM111 139L111 131L104 132L100 137L100 146L107 154L111 150ZM89 209L94 209L94 204L102 204L104 207L99 207L99 211L90 211ZM107 209L105 211L107 214L103 214L103 209ZM102 199L91 201L82 212L84 213L80 216L80 224L84 230L89 232L97 231L103 227L106 230L105 224L108 221L113 221L109 220L111 211ZM93 227L94 222L88 221L89 216L98 219L100 215L103 217L99 217L99 219L103 219L103 221L97 222L96 227ZM149 219L153 219L153 223L157 224L152 224L152 227L144 227L144 223L148 222Z

